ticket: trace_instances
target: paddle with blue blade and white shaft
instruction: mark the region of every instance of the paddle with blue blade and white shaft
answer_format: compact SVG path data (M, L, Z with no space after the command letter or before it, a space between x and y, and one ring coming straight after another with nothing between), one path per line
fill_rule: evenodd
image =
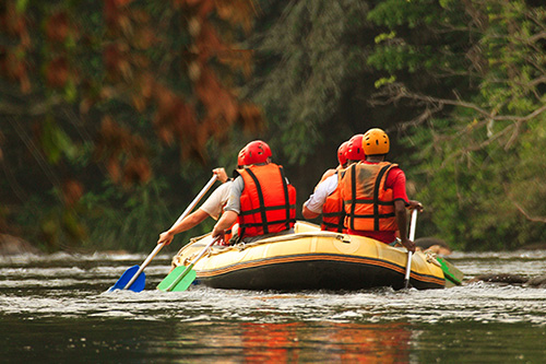
M178 224L181 220L183 220L190 212L193 210L195 204L201 200L201 198L206 193L206 191L211 188L212 185L216 181L217 176L214 175L212 178L209 180L209 183L201 189L199 195L191 201L190 206L186 209L186 211L182 212L180 218L173 224L175 226ZM173 227L171 227L173 228ZM114 284L108 292L111 292L114 290L131 290L133 292L141 292L144 290L145 281L146 281L146 274L144 274L144 268L147 267L147 265L154 259L154 257L159 253L159 250L163 248L165 244L157 244L155 249L147 256L147 258L144 260L144 262L139 267L139 266L133 266L126 270L123 274L119 278L119 280Z

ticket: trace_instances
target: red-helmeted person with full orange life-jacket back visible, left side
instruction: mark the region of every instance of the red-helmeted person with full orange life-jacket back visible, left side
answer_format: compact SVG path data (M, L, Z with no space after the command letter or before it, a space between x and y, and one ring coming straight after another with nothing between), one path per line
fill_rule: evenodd
M236 221L238 239L251 243L261 238L294 233L296 188L288 183L282 166L271 162L271 149L256 140L245 148L245 168L237 172L224 214L212 232L223 235Z

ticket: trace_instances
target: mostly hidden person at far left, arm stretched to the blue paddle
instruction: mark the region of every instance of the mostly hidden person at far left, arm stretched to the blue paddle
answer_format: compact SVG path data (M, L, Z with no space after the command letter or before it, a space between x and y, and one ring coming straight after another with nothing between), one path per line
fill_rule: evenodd
M237 156L237 168L242 168L245 166L244 155L245 148L240 150ZM161 233L157 244L165 243L165 245L169 245L170 242L173 242L173 239L175 238L176 234L186 232L199 225L209 216L214 220L218 220L224 207L227 203L227 200L229 199L229 191L232 189L233 179L227 177L226 171L224 168L216 168L212 172L216 175L222 185L217 187L214 192L211 193L211 196L209 196L209 198L198 210L173 225L173 227L170 227L169 230ZM226 234L224 236L225 240L221 242L221 245L226 245L225 242L228 242L232 238L232 231L234 231L234 233L236 231L236 227L233 225L226 231Z

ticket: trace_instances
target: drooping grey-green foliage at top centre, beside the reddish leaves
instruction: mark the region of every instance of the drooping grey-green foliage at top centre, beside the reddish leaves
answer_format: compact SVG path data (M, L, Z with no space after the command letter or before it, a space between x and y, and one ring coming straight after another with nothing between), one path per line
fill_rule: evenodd
M263 105L272 146L284 151L285 163L312 163L329 138L336 148L352 137L329 121L366 69L367 8L361 1L293 1L259 37L258 62L268 68L249 92Z

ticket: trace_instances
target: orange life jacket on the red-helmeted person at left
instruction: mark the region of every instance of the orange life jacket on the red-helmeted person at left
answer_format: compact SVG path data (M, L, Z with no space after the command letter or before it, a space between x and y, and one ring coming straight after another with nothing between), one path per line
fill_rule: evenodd
M240 238L280 233L296 222L296 188L274 163L238 169L245 188L240 197Z

